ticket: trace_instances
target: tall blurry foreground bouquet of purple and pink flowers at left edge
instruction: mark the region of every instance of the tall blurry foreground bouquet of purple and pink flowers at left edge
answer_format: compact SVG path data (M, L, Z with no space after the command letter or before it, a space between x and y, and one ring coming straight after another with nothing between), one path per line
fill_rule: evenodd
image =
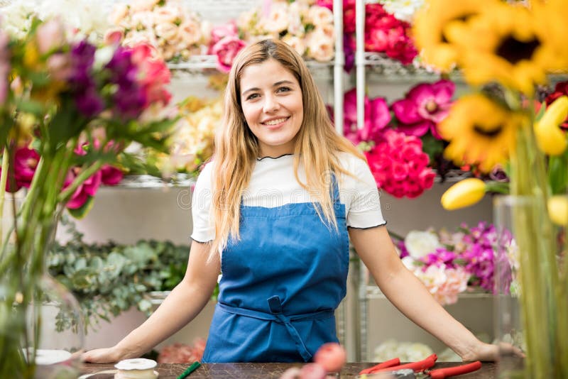
M129 143L167 151L176 120L148 116L168 104L170 74L146 45L97 48L86 38L68 37L57 19L33 20L21 39L0 29L0 41L0 210L6 186L23 185L35 165L11 230L0 234L0 355L6 363L0 376L28 378L38 341L23 320L31 302L41 299L38 282L62 210L74 198L92 197L105 165L135 165L125 152ZM88 207L87 199L81 212ZM38 326L40 315L30 321Z

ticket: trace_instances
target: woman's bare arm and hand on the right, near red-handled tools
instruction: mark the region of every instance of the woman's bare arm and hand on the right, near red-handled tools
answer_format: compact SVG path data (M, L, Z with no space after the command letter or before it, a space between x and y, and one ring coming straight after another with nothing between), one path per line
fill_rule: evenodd
M395 251L386 226L349 229L351 243L378 287L400 312L452 348L464 361L493 361L498 347L484 344L434 300Z

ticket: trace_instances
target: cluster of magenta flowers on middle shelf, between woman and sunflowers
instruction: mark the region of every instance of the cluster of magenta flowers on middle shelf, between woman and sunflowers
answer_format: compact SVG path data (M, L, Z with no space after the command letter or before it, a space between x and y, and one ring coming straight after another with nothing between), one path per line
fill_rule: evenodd
M366 154L379 188L395 197L418 197L443 170L445 142L437 131L447 116L454 83L442 79L419 83L389 106L386 99L365 97L364 127L357 127L356 91L344 95L344 136Z

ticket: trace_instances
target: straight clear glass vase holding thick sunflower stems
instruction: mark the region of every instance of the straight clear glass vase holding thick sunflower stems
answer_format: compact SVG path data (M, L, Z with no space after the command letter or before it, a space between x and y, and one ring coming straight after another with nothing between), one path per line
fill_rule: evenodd
M564 229L550 222L543 197L499 196L493 204L495 335L506 343L498 378L567 378Z

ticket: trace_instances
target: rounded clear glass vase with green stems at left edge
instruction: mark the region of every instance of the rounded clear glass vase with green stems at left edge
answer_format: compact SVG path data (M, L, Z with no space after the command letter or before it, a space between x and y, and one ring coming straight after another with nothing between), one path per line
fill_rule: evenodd
M4 241L0 256L0 378L77 378L84 346L80 306L65 286L45 272L56 218L42 229L47 236L45 248L29 253L18 250L13 225L21 224L21 199L5 200L0 234ZM14 214L18 215L16 221ZM39 264L34 266L34 262Z

